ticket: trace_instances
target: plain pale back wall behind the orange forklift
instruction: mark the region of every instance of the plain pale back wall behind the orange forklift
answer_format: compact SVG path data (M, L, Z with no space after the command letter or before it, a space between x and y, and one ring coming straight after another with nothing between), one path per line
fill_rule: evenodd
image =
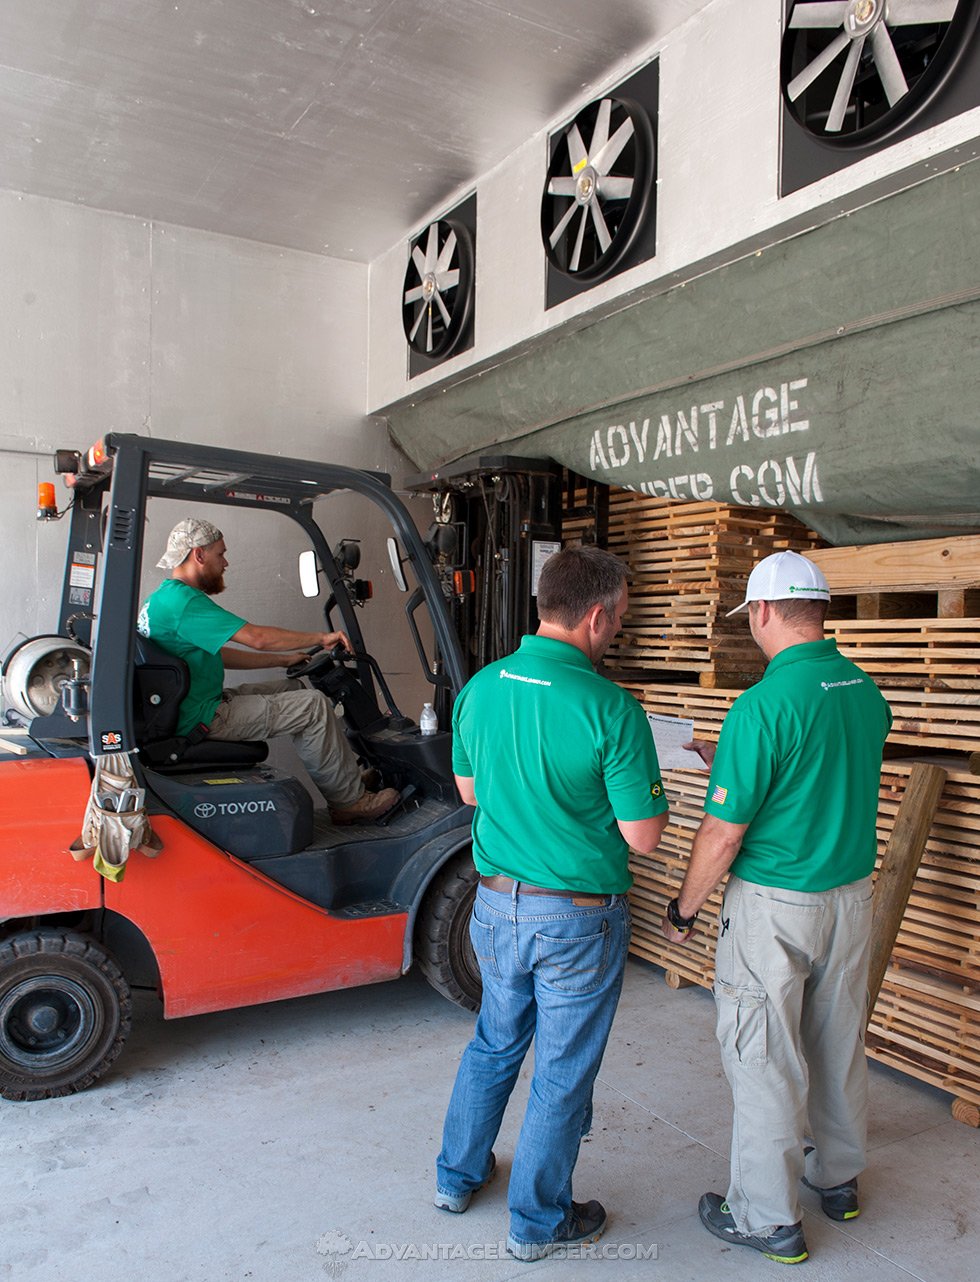
M384 423L364 415L360 264L0 191L0 282L4 654L56 622L67 523L35 520L37 482L56 479L55 447L87 449L124 431L395 477L405 468ZM67 501L60 481L58 501ZM386 529L340 505L326 527L331 540L367 540L360 574L381 594L378 658L408 670L408 649L389 640ZM144 590L159 582L153 563L182 514L172 504L150 514ZM230 513L223 524L228 608L255 622L319 626L319 606L299 594L291 523Z

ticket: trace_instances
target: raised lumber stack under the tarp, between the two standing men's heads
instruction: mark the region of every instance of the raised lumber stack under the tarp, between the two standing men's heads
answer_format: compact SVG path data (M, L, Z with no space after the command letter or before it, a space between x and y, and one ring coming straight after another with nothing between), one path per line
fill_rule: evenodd
M684 674L707 687L745 686L763 670L745 620L727 619L752 567L818 538L782 512L675 503L627 491L609 496L609 551L630 568L630 610L608 653L613 667Z

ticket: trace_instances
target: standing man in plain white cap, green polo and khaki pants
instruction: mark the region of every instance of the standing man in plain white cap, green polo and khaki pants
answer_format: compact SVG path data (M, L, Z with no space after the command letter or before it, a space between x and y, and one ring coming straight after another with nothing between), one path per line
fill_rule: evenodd
M825 640L829 600L821 570L785 551L759 562L730 612L748 610L770 662L725 718L663 920L668 940L686 940L731 869L714 978L731 1176L727 1195L705 1194L698 1211L716 1237L784 1264L807 1258L800 1179L847 1220L865 1167L871 872L891 714Z

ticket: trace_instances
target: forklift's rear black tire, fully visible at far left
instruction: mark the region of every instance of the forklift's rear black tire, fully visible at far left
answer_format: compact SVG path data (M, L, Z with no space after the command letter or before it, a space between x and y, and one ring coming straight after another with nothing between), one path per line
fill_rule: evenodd
M0 1095L47 1100L83 1091L123 1047L130 986L92 938L40 929L0 945Z

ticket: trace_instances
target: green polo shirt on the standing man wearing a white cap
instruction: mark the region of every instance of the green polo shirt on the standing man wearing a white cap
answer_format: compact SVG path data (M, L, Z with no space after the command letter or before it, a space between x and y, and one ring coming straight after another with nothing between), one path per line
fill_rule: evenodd
M867 877L890 727L877 686L835 641L777 654L725 718L704 801L749 826L731 870L802 891Z

